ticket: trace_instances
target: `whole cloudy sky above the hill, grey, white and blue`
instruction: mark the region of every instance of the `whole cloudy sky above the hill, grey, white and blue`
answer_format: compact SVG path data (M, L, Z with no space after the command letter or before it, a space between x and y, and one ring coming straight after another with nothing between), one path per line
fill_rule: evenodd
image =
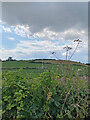
M2 59L65 59L80 39L71 60L88 62L88 2L3 2L0 25Z

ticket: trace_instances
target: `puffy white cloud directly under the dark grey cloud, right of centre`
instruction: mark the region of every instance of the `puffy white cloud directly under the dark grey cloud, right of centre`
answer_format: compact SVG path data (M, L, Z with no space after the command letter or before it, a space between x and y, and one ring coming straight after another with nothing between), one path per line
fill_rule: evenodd
M34 33L34 37L39 37L44 40L59 40L61 42L65 40L74 40L85 36L87 33L85 30L78 30L70 28L63 32L51 31L49 28L44 28L41 32Z

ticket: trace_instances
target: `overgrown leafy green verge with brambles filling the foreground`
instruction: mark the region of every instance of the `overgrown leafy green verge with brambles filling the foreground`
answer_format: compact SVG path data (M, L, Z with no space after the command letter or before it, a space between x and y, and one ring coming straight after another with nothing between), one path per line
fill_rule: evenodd
M3 73L3 119L88 118L88 83L46 71L27 79L21 71Z

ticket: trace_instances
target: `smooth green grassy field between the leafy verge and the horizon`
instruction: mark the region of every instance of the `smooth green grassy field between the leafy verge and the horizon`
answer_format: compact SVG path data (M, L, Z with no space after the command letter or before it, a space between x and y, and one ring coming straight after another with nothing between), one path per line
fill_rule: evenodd
M34 60L34 61L6 61L2 62L3 72L16 71L17 69L23 69L24 75L30 75L35 77L40 75L46 69L53 70L56 73L65 74L66 69L69 69L70 74L75 75L79 71L79 75L88 75L88 67L81 63L66 62L57 60ZM66 71L67 72L67 71Z

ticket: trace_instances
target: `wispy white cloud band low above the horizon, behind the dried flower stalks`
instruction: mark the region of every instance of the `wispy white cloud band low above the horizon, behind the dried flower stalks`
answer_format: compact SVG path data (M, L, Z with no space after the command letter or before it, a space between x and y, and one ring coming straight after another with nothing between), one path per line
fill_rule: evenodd
M85 43L82 43L82 44L85 44ZM17 47L14 49L7 50L3 48L2 58L7 59L9 56L12 56L15 59L22 59L22 58L25 58L25 56L27 56L27 58L29 59L35 55L37 56L37 58L42 58L44 54L46 57L52 58L53 56L50 56L51 55L50 52L55 51L56 56L58 58L65 59L66 52L63 49L63 47L65 46L66 45L56 45L56 43L51 41L20 41L20 43L17 44ZM70 54L68 54L70 56L73 50L75 49L75 43L71 42L71 45L69 46L73 47L73 49L70 50ZM81 60L83 60L82 58L85 58L85 57L87 59L88 55L87 55L86 44L81 48L78 47L74 56L80 57ZM71 60L75 59L74 56L72 57Z

